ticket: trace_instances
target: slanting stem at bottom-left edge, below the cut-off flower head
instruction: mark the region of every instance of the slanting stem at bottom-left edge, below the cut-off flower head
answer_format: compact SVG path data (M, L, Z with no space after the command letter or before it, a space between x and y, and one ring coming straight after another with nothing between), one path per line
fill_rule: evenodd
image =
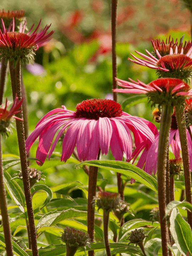
M0 209L2 216L3 231L5 236L5 245L7 255L13 256L12 243L11 243L11 231L9 226L9 215L6 202L6 191L3 181L3 169L2 169L2 148L1 148L1 135L0 135Z

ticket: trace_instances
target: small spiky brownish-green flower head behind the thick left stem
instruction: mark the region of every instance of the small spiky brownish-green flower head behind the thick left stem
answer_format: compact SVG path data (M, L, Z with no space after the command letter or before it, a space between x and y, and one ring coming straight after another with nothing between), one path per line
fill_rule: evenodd
M30 187L32 188L37 182L43 180L45 182L45 176L42 175L41 171L38 171L35 168L27 167L30 179ZM22 171L20 170L18 174L14 174L14 178L19 178L20 180L23 179Z

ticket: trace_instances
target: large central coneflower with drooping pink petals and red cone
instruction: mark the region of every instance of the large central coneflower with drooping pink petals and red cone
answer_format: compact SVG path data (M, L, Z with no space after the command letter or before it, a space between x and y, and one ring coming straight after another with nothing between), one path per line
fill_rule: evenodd
M121 105L112 100L91 99L79 103L76 112L62 106L46 114L26 140L27 152L39 137L36 157L44 162L48 153L50 158L67 127L69 128L63 139L61 156L61 161L65 162L73 153L75 145L79 159L83 161L97 159L99 149L106 155L109 146L115 160L121 161L124 152L129 161L132 156L130 131L133 132L135 143L138 145L147 139L153 142L155 130L155 126L145 119L122 112ZM59 133L51 147L58 130Z

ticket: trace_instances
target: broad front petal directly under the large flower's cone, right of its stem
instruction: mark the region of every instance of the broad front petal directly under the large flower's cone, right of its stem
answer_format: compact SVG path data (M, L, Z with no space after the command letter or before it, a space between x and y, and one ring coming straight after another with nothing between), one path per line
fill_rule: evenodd
M107 154L109 151L111 136L112 136L112 125L111 121L107 117L99 118L98 121L98 132L99 132L99 144L101 148L101 154Z

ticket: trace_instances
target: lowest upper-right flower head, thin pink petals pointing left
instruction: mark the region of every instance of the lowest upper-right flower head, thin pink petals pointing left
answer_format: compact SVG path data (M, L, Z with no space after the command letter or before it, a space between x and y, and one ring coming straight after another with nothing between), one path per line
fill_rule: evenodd
M152 105L172 104L173 106L183 103L186 97L192 97L190 86L177 78L159 78L149 84L137 80L130 82L117 79L117 84L126 89L115 89L115 92L145 94Z

